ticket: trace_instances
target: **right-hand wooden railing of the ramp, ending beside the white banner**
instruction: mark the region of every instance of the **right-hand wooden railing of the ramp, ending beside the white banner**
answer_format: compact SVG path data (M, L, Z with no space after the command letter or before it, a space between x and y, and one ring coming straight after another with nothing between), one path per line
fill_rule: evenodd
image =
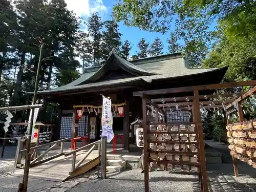
M76 150L69 152L69 153L65 153L65 157L66 156L70 156L72 155L72 166L71 166L71 172L73 172L74 170L76 170L77 168L80 167L80 165L86 160L86 158L92 153L92 151L96 148L96 145L98 144L98 155L100 157L100 145L101 145L101 141L95 141L93 143L90 143L88 145L84 145L80 148L77 148ZM77 156L77 152L80 152L81 150L85 150L86 148L90 147L90 150L87 152L86 156L84 156L77 164L76 164L76 156Z

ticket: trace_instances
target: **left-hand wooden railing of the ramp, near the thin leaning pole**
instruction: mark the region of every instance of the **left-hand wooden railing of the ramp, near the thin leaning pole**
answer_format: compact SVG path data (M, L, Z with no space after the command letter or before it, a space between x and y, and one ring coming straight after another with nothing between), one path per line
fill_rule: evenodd
M31 157L33 157L33 156L35 156L35 154L37 154L37 150L39 148L50 146L50 148L48 148L44 153L38 155L34 159L32 158L32 161L31 161L29 167L33 167L33 166L48 162L50 160L53 160L55 158L58 158L58 157L64 155L64 153L63 153L64 142L68 141L68 140L70 140L70 138L61 139L61 140L58 140L58 141L53 141L53 142L50 142L50 143L46 143L46 144L31 147L30 152L33 151L32 155L31 155ZM24 139L22 139L22 138L18 139L13 171L17 168L17 165L19 165L18 167L21 167L23 165L22 164L22 155L23 155L23 153L26 153L26 149L25 150L23 149L24 142L25 142ZM57 144L60 144L60 152L58 154L53 155L51 157L48 157L46 159L42 159L46 154L48 154L51 150L53 150L53 148ZM20 150L20 149L22 149L22 150Z

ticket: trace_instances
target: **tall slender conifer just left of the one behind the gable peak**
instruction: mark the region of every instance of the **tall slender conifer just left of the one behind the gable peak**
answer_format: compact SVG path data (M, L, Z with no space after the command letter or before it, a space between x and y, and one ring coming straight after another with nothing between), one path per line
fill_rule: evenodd
M88 19L88 33L89 38L92 39L92 50L93 50L93 66L101 65L102 61L102 50L101 50L101 40L102 40L102 28L103 22L98 13L93 13Z

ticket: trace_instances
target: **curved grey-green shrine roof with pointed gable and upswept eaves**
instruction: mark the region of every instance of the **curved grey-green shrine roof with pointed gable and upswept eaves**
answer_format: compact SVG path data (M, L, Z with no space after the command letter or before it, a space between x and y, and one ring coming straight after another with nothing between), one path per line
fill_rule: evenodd
M151 83L155 80L175 79L178 77L187 77L193 75L203 75L205 73L213 73L218 70L226 73L228 67L214 69L190 69L188 63L182 58L181 53L166 54L133 61L126 61L119 57L116 53L111 52L110 57L105 65L100 67L92 67L87 70L81 77L73 82L52 90L39 91L38 94L55 94L60 92L72 92L75 90L86 90L94 87L120 86L123 83L134 83L141 81L142 83ZM106 80L97 82L97 80L105 74L108 69L117 65L121 69L131 73L134 77Z

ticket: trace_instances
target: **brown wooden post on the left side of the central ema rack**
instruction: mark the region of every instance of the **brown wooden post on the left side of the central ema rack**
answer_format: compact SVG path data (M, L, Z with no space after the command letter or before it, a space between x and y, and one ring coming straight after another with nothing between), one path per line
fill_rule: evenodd
M148 152L147 149L149 144L147 142L147 109L146 109L146 98L142 97L142 117L143 117L143 162L144 162L144 192L150 192L150 185L148 183L150 174L148 173Z

